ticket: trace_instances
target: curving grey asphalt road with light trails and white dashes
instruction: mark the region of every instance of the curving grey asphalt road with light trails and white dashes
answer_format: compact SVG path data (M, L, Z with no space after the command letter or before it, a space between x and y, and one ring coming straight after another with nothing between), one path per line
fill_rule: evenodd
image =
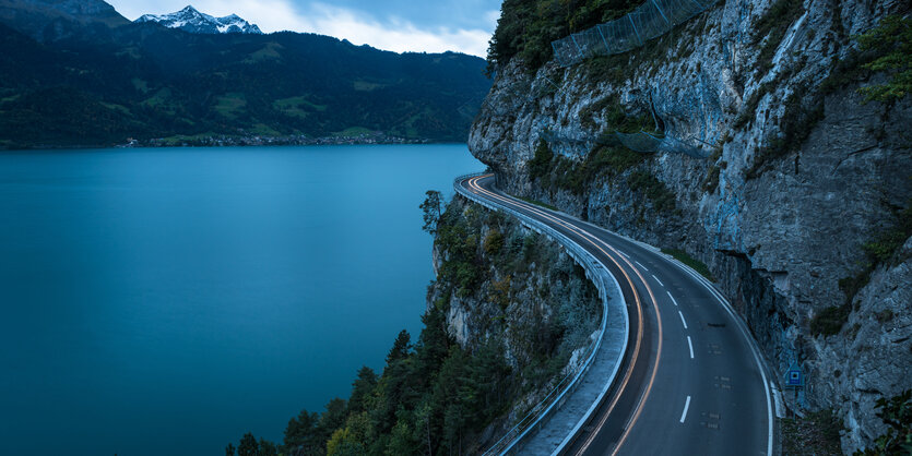
M630 317L623 373L560 454L773 453L772 377L709 280L654 248L507 195L494 175L457 184L559 230L621 286Z

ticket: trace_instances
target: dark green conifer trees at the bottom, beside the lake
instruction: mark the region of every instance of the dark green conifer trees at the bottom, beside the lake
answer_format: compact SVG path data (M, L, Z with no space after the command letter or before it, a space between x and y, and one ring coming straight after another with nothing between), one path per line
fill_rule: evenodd
M322 413L301 410L292 418L281 453L462 454L466 437L510 404L511 370L494 340L473 351L455 344L442 309L431 308L422 321L417 343L399 334L380 375L366 367L358 371L348 400L336 398Z

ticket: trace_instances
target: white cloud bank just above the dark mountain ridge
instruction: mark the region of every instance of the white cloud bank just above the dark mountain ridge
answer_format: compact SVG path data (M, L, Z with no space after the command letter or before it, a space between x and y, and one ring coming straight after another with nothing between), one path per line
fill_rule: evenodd
M122 1L122 0L121 0ZM143 13L166 13L185 7L188 0L156 1L142 5L137 1L115 1L121 14L135 19ZM127 4L131 3L131 4ZM141 11L151 7L155 11ZM481 28L419 27L401 17L383 21L356 10L310 3L297 7L288 0L201 0L194 7L215 16L237 14L256 23L263 32L309 32L347 39L355 45L369 45L395 52L443 52L447 50L484 57L490 31ZM162 9L169 9L161 11ZM490 19L493 13L486 14ZM497 13L499 15L499 13ZM496 23L496 17L494 19ZM491 25L493 29L493 25Z

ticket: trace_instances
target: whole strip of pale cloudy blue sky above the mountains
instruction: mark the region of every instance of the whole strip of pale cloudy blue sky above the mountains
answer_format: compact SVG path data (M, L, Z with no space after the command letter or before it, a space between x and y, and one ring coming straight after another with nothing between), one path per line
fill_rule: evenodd
M129 20L181 10L188 0L108 0ZM237 14L263 32L311 32L402 51L484 57L501 0L194 0L214 16Z

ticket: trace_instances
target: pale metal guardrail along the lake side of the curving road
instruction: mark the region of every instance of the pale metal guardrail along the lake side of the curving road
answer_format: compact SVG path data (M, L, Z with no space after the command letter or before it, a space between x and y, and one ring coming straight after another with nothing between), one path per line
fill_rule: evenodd
M494 446L491 446L490 448L488 448L488 451L484 453L485 455L506 455L519 451L519 445L523 442L523 440L530 436L534 431L541 429L542 425L546 422L546 420L550 417L550 415L560 409L560 407L567 400L568 395L575 392L577 387L580 385L579 380L589 371L589 368L592 365L592 361L595 359L595 355L599 351L599 347L602 345L602 340L605 336L605 327L607 324L609 305L607 292L608 287L611 285L618 287L618 285L615 281L614 277L611 276L608 271L601 264L601 262L599 262L591 253L589 253L578 243L570 240L564 233L543 224L542 221L531 218L508 206L501 205L493 201L484 200L478 195L467 191L460 184L460 182L463 180L483 175L485 175L485 172L474 172L470 175L459 176L453 181L453 189L457 191L457 193L465 196L466 199L477 204L481 204L482 206L485 206L491 211L501 211L517 217L523 225L525 225L530 229L544 236L547 236L548 238L564 245L567 253L579 265L583 267L583 269L587 273L587 277L589 277L590 280L592 280L592 283L599 289L599 295L602 298L602 324L599 329L600 335L599 338L590 343L587 360L583 363L582 368L579 370L579 372L577 372L576 375L570 373L566 375L564 379L561 379L560 382L558 382L558 384L545 396L544 399L536 404L525 417L523 417L512 429L510 429L499 441L497 441L497 443L495 443ZM623 295L620 295L620 299L621 301L624 300ZM626 303L621 303L621 305L626 308ZM627 326L627 328L629 332L629 326ZM625 340L628 338L628 335L624 336ZM620 359L618 359L617 362L619 363ZM616 365L614 373L612 374L612 377L608 379L608 383L614 383L614 380L617 377L617 372L618 369ZM590 409L588 413L591 413L591 411L592 409ZM578 428L579 425L577 425L575 432L576 430L578 430Z

